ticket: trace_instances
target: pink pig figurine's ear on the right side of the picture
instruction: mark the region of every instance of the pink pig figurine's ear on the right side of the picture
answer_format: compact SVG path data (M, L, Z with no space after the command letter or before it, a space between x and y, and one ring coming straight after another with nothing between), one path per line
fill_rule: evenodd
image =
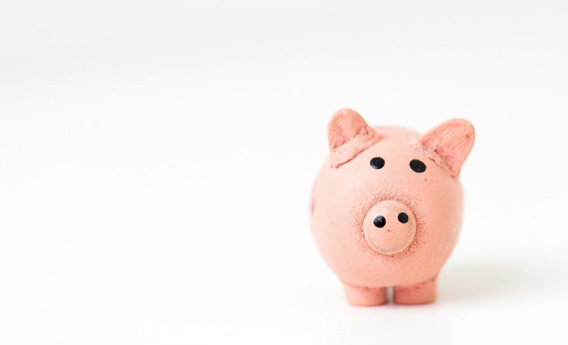
M434 161L445 166L453 177L458 177L475 138L476 132L469 121L452 119L432 128L418 140L442 159L442 162L440 159Z

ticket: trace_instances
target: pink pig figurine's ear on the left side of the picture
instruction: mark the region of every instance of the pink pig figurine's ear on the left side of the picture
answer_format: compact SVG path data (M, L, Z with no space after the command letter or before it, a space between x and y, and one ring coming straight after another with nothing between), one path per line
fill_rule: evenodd
M382 136L369 127L355 110L340 109L333 114L327 128L330 163L333 168L351 161L373 146Z

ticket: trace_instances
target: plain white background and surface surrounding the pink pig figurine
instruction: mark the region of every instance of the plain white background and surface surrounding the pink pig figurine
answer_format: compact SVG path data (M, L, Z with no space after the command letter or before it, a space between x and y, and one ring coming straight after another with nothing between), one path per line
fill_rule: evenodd
M0 2L0 344L566 344L566 1ZM476 126L427 306L309 230L326 126Z

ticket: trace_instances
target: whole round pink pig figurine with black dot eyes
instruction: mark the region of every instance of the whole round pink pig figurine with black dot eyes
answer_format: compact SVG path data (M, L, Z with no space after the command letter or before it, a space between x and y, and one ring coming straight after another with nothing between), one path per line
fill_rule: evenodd
M452 119L424 135L371 128L357 112L335 112L329 159L311 195L311 229L347 302L378 306L433 302L436 277L462 221L458 177L473 126Z

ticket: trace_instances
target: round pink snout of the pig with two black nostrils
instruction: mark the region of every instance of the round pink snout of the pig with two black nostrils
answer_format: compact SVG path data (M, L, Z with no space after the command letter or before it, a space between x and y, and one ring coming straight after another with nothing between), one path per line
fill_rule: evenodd
M400 253L416 235L416 219L408 206L394 200L381 201L366 214L363 233L376 252Z

